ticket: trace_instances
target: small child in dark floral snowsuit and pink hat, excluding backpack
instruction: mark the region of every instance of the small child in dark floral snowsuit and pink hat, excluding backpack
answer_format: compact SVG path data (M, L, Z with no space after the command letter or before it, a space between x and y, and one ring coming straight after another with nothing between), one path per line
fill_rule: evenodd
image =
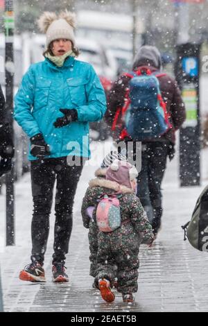
M137 292L139 268L139 246L154 240L146 213L134 194L137 185L137 170L128 162L115 160L107 168L105 179L89 182L83 198L83 221L86 221L87 207L95 207L93 218L96 221L97 199L102 194L121 194L121 227L113 232L98 232L98 253L95 282L107 302L114 300L111 287L114 277L118 277L117 291L124 302L134 301L132 293ZM116 269L115 269L116 265Z

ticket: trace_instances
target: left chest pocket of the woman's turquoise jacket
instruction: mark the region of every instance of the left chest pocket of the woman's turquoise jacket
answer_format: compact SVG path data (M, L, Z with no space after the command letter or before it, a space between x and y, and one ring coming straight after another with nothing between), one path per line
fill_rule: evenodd
M46 107L49 101L51 80L39 80L35 87L34 110Z

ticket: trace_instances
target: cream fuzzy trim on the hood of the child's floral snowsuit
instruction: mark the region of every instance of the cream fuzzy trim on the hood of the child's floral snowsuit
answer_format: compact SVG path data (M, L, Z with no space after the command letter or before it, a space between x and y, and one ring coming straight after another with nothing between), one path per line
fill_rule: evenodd
M119 185L119 183L111 180L106 180L103 178L96 178L89 181L89 187L104 187L107 189L112 189L119 194L133 194L134 191L128 187Z

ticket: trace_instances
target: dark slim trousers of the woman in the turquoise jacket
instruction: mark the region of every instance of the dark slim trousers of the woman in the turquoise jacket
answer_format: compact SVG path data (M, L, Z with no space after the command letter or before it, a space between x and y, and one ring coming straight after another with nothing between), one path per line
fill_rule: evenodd
M53 244L53 263L64 261L69 249L72 230L73 199L80 174L81 166L69 166L67 157L31 162L31 181L33 194L33 220L31 225L32 256L31 259L44 261L47 240L49 237L49 215L55 193L55 229Z

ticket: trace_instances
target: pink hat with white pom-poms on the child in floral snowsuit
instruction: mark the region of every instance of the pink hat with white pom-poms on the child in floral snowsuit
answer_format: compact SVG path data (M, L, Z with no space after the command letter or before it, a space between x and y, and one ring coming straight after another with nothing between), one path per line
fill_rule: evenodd
M130 181L138 176L138 171L127 161L114 160L107 168L105 178L119 183L128 188L132 188Z

